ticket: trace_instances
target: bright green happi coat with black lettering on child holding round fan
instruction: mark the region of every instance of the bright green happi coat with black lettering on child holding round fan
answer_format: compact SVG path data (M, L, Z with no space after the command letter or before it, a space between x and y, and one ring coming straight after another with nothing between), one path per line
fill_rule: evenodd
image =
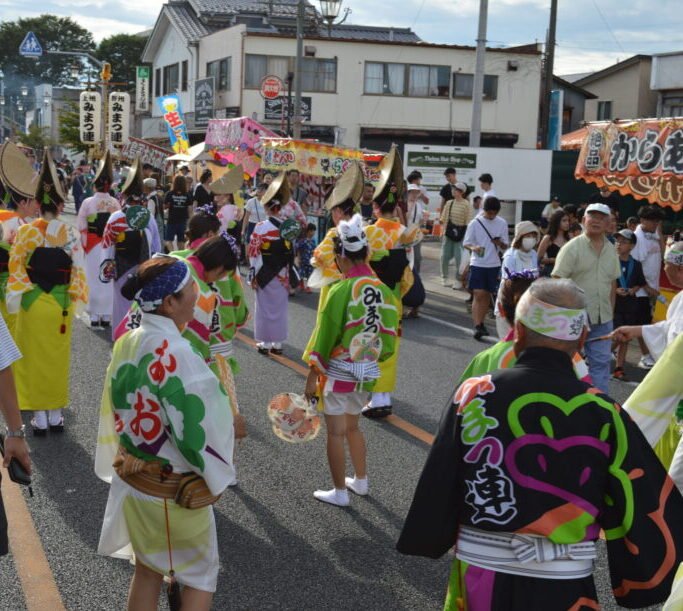
M379 368L370 377L354 372L352 365L377 365L391 358L398 345L399 320L396 297L365 263L330 288L304 357L319 374L323 402L329 393L374 389Z

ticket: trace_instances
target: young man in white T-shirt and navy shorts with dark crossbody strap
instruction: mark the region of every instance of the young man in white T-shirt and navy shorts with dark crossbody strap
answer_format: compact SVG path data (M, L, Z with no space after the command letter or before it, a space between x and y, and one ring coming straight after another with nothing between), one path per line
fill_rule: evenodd
M477 340L489 335L484 318L498 290L501 254L510 241L507 223L498 216L498 198L487 197L482 207L483 214L470 221L463 239L463 247L471 252L468 288L473 291L472 320Z

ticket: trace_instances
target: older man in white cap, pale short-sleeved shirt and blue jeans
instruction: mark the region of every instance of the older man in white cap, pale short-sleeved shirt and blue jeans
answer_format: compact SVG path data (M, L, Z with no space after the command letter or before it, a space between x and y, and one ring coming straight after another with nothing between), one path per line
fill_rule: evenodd
M621 276L619 257L606 237L609 222L607 205L590 204L583 215L583 233L560 249L553 269L553 278L570 278L586 293L590 322L586 360L593 382L603 392L609 390L608 336L613 329L616 280Z

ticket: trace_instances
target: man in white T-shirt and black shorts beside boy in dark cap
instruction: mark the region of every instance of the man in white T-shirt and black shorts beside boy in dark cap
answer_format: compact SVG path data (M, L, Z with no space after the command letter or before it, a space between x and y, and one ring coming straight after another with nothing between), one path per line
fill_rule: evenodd
M657 206L641 206L638 210L640 221L636 227L636 245L631 256L640 261L647 286L636 293L638 324L652 323L652 300L659 295L659 274L662 269L662 237L659 226L662 221L661 210ZM647 344L638 338L643 353L638 362L641 369L651 369L655 359L650 354Z

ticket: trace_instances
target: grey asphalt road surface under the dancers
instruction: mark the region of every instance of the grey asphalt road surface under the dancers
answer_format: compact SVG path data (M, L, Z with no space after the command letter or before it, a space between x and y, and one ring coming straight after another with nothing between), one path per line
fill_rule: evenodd
M423 309L429 319L406 321L394 411L432 433L460 372L482 344L456 328L469 328L469 319L453 291L432 282L435 261L428 257L423 265L433 291ZM316 304L315 294L290 301L285 356L297 362ZM27 502L70 610L123 609L132 575L128 563L96 554L108 487L96 478L93 461L110 349L108 334L76 321L67 430L30 439L35 497ZM449 559L409 558L394 550L427 445L390 424L364 421L370 496L353 497L349 509L316 502L313 491L331 486L324 434L309 444L286 444L271 432L265 410L273 395L301 392L302 376L245 343L237 342L236 349L242 369L238 396L249 437L237 450L239 485L215 507L221 571L214 608L440 609ZM631 390L614 383L612 392L623 400ZM604 557L597 580L604 608L618 609ZM0 610L25 608L11 557L0 559Z

